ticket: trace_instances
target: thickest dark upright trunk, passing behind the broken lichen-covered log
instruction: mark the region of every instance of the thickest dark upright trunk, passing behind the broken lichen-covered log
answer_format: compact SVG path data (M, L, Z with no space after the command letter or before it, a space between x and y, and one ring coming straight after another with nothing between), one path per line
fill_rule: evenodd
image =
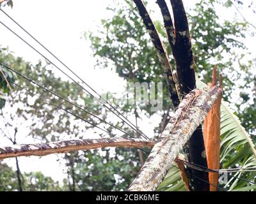
M157 0L157 4L163 15L164 27L168 36L170 47L172 48L175 69L177 71L177 83L179 83L179 92L182 97L189 91L196 88L195 69L193 61L193 52L189 34L188 19L186 11L181 0L171 0L173 17L170 15L168 6L164 0ZM173 25L174 22L174 25ZM201 152L205 150L202 126L198 126L189 142L184 147L186 159L191 163L200 164L207 167L207 159L201 157ZM208 172L197 171L192 168L186 168L189 178L189 188L191 191L209 191ZM195 179L189 176L205 180Z

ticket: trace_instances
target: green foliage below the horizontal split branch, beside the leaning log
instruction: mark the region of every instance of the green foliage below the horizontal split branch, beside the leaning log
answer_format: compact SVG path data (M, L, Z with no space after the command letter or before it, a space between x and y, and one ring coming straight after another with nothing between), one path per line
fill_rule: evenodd
M121 191L127 189L140 169L134 149L102 149L70 152L71 191ZM72 159L70 159L72 158ZM72 186L73 181L75 185Z

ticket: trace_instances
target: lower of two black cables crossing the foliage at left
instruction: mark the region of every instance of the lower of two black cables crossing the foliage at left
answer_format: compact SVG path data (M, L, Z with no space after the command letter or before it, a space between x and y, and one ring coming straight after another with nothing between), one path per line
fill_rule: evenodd
M1 76L0 76L0 77L1 77ZM1 78L2 78L3 80L5 80L4 77L1 77ZM92 122L90 122L90 121L88 121L88 120L85 120L85 119L79 117L78 115L76 115L76 114L74 114L74 113L68 111L67 109L62 108L61 106L58 106L58 105L56 105L55 103L52 103L51 101L49 101L49 100L47 100L47 99L45 99L45 98L42 98L41 96L38 96L38 94L34 94L34 93L33 93L32 91L30 91L29 89L26 89L25 87L22 87L22 86L16 84L15 82L10 81L10 80L8 80L8 82L10 82L10 83L16 85L17 87L19 87L20 89L25 90L26 92L29 92L29 93L32 94L33 96L37 96L38 98L43 99L43 100L46 101L47 103L50 103L52 106L56 106L57 108L60 108L60 109L63 110L64 112L67 112L67 113L73 115L74 117L77 117L78 119L81 119L81 120L83 120L84 122L87 122L87 123L91 124L93 127L99 128L100 130L102 130L102 131L108 133L109 135L115 137L115 135L113 135L112 133L106 131L105 129L102 129L102 128L100 128L99 126L93 124ZM147 152L146 150L141 149L140 147L138 147L138 149L140 149L141 151L143 151L143 152L149 154L149 152Z

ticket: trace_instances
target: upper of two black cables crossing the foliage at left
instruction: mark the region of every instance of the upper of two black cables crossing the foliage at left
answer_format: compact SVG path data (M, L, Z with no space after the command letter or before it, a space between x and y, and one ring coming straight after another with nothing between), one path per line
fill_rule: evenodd
M37 85L37 86L40 87L41 89L44 89L44 90L47 91L47 92L51 92L51 94L53 94L54 96L57 96L58 98L60 98L60 99L62 99L63 101L65 101L66 103L68 103L68 104L70 104L70 105L72 105L72 106L76 106L76 108L79 108L79 110L82 110L82 111L84 111L84 112L86 112L86 113L92 115L93 117L99 119L101 122L104 122L104 123L108 124L109 126L115 128L115 129L118 129L119 131L122 131L122 133L125 133L125 135L129 135L129 136L131 136L132 138L135 138L135 137L132 136L131 134L126 133L124 130L122 130L122 129L116 127L116 126L114 126L113 124L111 124L111 123L109 123L109 122L106 122L106 121L103 120L103 119L100 119L100 117L98 117L97 115L94 115L93 113L88 112L88 111L85 110L84 108L81 108L80 106L77 106L76 104L74 104L74 103L68 101L67 99L63 98L63 96L60 96L59 94L56 94L55 92L53 92L53 91L51 91L51 90L45 88L43 85L40 85L40 84L38 84L37 82L31 80L30 78L28 78L28 77L22 75L22 73L20 73L19 71L16 71L15 69L10 68L9 66L7 66L6 64L3 64L2 62L0 62L0 64L1 64L2 66L4 66L6 69L9 69L10 71L13 71L14 73L16 73L17 75L19 75L20 77L23 77L23 78L25 78L26 80L28 80L29 82L31 82L31 83Z

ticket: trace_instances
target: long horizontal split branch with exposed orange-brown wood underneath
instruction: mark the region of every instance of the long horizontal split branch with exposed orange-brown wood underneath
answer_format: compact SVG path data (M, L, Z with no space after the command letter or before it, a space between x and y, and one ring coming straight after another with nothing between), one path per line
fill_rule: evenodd
M51 143L36 143L0 147L0 159L18 156L45 156L76 150L97 149L102 147L153 147L155 142L143 139L100 138L84 140L63 140Z

